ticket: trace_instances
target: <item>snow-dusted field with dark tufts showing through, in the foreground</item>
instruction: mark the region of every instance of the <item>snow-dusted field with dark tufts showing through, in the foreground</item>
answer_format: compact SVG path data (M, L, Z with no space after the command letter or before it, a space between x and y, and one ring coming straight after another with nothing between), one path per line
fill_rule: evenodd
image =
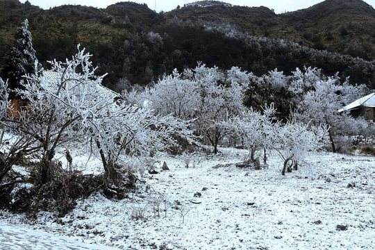
M62 249L375 249L375 158L319 153L285 176L273 157L262 170L224 166L246 154L196 155L188 169L181 156L158 156L160 174L145 174L128 199L95 194L63 218L0 212L0 249L51 239Z

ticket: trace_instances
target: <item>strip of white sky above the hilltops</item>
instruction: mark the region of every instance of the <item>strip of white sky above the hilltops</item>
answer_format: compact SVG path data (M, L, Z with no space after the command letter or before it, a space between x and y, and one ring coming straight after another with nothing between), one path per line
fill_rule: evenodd
M26 0L21 0L24 3ZM34 6L40 6L40 8L48 9L50 7L60 6L64 4L79 4L82 6L93 6L97 8L106 8L108 5L117 3L117 0L28 0ZM126 0L123 0L126 1ZM191 3L197 0L133 0L136 3L147 3L149 8L156 12L169 11L176 8L176 6L183 6L184 3ZM270 9L274 9L277 14L285 11L300 10L315 5L316 3L322 2L322 0L226 0L226 3L231 3L238 6L249 6L258 7L265 6ZM365 0L371 6L375 6L375 0ZM156 8L155 8L156 6Z

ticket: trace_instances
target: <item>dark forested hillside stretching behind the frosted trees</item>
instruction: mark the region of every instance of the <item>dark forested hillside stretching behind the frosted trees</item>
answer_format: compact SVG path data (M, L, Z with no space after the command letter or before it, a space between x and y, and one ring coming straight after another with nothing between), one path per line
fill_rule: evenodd
M147 85L197 61L221 69L235 65L256 75L275 68L291 74L306 65L374 88L375 65L368 60L375 58L375 10L361 0L326 0L281 15L218 1L165 13L132 2L42 10L28 1L6 0L0 10L0 68L17 26L27 18L44 67L47 60L65 60L80 43L93 54L98 74L108 72L103 84L115 90L128 83Z

